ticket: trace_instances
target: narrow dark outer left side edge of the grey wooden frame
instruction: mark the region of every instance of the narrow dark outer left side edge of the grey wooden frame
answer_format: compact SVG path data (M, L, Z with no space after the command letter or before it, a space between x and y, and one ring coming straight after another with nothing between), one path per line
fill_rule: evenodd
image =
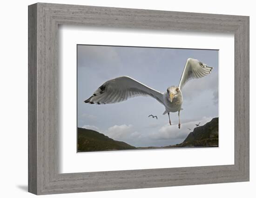
M28 191L37 193L37 6L28 9Z

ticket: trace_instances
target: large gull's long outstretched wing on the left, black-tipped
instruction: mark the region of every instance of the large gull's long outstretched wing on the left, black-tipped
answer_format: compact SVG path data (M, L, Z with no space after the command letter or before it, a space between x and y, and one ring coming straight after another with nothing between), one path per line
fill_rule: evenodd
M111 104L122 102L135 96L152 96L163 104L162 93L151 89L131 77L117 77L103 83L94 92L93 96L84 102L91 104Z

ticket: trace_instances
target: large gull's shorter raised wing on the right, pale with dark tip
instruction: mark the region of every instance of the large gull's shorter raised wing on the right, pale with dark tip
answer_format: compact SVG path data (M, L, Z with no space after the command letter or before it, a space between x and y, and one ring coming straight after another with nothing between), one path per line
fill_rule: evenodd
M207 64L204 64L199 60L188 58L182 72L179 88L182 89L183 86L192 78L202 78L208 75L211 73L212 69L213 67L209 67Z

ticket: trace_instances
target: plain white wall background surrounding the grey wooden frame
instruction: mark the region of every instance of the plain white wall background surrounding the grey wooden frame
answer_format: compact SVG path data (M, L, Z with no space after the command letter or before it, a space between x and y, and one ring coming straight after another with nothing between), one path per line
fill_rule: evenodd
M2 1L0 31L0 196L29 198L27 192L27 5L34 0ZM56 198L130 198L130 197L190 197L232 198L256 196L255 162L256 145L253 134L255 112L256 13L251 0L45 0L49 3L91 6L115 6L126 8L169 10L198 13L217 13L250 16L250 182L163 187L151 189L121 190L51 195Z

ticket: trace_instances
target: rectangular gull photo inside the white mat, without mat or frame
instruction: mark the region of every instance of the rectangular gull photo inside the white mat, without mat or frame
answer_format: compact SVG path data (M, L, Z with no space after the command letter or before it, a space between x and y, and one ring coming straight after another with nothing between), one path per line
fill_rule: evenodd
M77 152L219 147L219 51L77 45Z

